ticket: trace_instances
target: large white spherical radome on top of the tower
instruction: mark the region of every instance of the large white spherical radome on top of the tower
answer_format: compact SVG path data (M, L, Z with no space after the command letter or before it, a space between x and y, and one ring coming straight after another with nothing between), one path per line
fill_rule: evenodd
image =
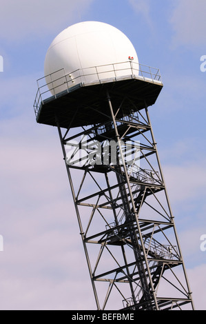
M131 64L137 66L138 57L123 32L107 23L85 21L66 28L52 41L44 73L48 88L56 94L78 83L132 74Z

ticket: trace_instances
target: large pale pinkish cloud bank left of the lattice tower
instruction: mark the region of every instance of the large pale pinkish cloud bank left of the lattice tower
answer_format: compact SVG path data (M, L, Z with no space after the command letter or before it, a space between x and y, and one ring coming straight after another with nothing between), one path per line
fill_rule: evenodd
M61 145L52 130L35 125L34 118L1 121L1 310L95 307Z

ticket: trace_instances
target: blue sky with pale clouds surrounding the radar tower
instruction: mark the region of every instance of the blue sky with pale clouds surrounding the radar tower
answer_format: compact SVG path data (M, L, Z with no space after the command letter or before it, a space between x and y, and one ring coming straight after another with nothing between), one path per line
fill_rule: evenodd
M54 37L91 20L119 28L140 63L161 70L150 117L196 309L206 309L205 12L205 0L1 0L1 310L95 309L58 134L32 108Z

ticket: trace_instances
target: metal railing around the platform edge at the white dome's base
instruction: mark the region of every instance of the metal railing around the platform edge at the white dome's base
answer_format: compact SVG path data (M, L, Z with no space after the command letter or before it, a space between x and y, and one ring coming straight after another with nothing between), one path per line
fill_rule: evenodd
M91 82L103 83L105 81L108 82L108 79L118 81L119 78L126 76L135 76L143 79L143 81L150 80L152 82L162 83L161 74L158 69L135 63L134 61L93 66L91 68L75 70L68 74L65 73L64 69L57 70L37 80L38 90L34 100L36 117L41 104L50 98L51 94L55 99L63 91L70 92L74 85L86 85Z

